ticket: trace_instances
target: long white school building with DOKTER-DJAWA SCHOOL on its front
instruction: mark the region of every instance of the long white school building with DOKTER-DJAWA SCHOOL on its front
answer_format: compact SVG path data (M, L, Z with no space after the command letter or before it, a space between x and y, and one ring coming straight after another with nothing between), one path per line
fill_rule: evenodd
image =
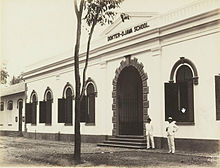
M129 20L104 30L92 43L82 140L120 146L121 138L144 139L150 117L156 147L166 148L165 124L172 116L179 126L177 149L219 150L219 7L218 0L202 0L163 15L129 13ZM84 61L82 49L81 72ZM32 65L23 75L24 135L74 140L73 56Z

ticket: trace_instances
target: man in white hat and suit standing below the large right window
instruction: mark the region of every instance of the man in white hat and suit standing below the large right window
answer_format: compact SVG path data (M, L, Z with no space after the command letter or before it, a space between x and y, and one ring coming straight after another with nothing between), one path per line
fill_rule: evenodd
M176 122L173 121L172 117L168 118L168 125L166 127L167 132L167 141L168 141L168 147L169 147L169 153L175 153L175 132L178 130Z

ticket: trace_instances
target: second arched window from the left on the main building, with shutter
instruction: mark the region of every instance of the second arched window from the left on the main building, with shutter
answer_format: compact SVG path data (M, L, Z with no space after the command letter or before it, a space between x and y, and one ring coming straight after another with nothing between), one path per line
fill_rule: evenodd
M52 123L53 94L49 87L44 93L44 101L40 102L40 123L51 125Z

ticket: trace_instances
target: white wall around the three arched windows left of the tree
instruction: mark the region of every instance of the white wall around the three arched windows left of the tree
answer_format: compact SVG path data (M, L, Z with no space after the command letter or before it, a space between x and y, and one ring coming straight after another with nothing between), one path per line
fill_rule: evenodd
M71 68L72 69L72 68ZM73 72L66 70L66 73L48 73L46 76L42 75L36 81L27 81L28 91L27 91L27 102L30 102L30 95L34 90L38 97L37 106L37 124L33 126L27 124L28 132L46 132L46 133L73 133L73 126L64 126L64 123L58 123L58 98L62 98L63 89L67 82L69 82L74 88L73 82ZM40 101L44 100L44 93L49 87L53 93L53 103L52 103L52 125L45 126L44 123L39 123L39 113L40 113ZM73 90L75 92L75 90ZM74 103L73 103L74 109ZM74 121L74 113L73 113Z

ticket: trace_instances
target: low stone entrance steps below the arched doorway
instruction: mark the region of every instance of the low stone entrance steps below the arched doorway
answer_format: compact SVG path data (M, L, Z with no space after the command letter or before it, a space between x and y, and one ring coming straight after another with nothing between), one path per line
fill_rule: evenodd
M133 149L146 149L147 147L145 137L136 135L117 135L97 145Z

